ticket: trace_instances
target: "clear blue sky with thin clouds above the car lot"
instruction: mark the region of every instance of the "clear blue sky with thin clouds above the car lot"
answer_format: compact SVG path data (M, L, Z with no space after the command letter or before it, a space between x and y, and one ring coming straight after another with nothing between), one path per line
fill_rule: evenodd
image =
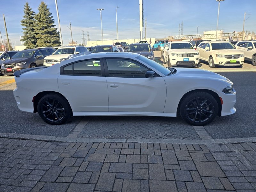
M40 0L1 0L0 30L6 39L3 14L5 15L9 39L12 45L21 45L24 5L28 2L36 13ZM44 0L58 27L55 0ZM140 38L139 0L57 0L62 30L63 43L71 39L82 42L82 30L87 40L87 31L91 40L101 40L100 11L104 39L116 39L116 7L119 39ZM225 0L220 2L219 30L224 32L242 31L244 12L246 16L244 30L256 32L256 0ZM144 0L144 25L147 18L147 38L165 38L178 35L179 23L183 21L183 35L216 30L218 2L215 0ZM250 15L249 15L250 14ZM145 35L145 26L143 36Z

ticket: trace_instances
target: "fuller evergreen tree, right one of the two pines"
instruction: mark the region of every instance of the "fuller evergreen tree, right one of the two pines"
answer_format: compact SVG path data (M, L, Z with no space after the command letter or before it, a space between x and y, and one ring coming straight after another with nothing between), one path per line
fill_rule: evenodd
M54 25L52 13L47 5L42 1L38 7L36 19L36 45L38 47L57 47L60 46L60 33Z

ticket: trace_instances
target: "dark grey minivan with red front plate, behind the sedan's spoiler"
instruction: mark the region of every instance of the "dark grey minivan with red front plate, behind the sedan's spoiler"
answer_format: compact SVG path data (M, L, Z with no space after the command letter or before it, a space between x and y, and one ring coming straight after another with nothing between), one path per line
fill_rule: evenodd
M3 62L1 71L4 75L13 75L21 69L42 66L44 57L51 55L55 50L52 47L43 47L19 51Z

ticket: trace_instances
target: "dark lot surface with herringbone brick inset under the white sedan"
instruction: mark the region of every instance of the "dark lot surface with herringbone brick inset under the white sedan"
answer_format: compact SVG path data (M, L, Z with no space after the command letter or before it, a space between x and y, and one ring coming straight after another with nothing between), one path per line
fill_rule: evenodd
M161 62L160 51L155 51L155 60ZM255 105L256 67L245 63L243 68L209 68L200 63L199 68L218 72L234 82L237 92L236 113L217 117L204 129L212 138L256 137ZM12 93L14 77L0 76L1 133L20 133L67 137L79 124L83 124L77 138L153 138L153 139L200 139L194 127L180 118L145 116L92 116L74 117L72 122L52 126L41 120L38 114L22 112L16 106ZM6 83L7 82L7 83Z

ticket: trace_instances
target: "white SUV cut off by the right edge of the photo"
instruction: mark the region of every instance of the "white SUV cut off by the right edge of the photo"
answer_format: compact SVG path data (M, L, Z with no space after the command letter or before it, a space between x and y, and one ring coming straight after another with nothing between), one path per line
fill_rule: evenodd
M256 66L256 41L239 41L235 47L244 53L245 60L252 61L252 65Z

